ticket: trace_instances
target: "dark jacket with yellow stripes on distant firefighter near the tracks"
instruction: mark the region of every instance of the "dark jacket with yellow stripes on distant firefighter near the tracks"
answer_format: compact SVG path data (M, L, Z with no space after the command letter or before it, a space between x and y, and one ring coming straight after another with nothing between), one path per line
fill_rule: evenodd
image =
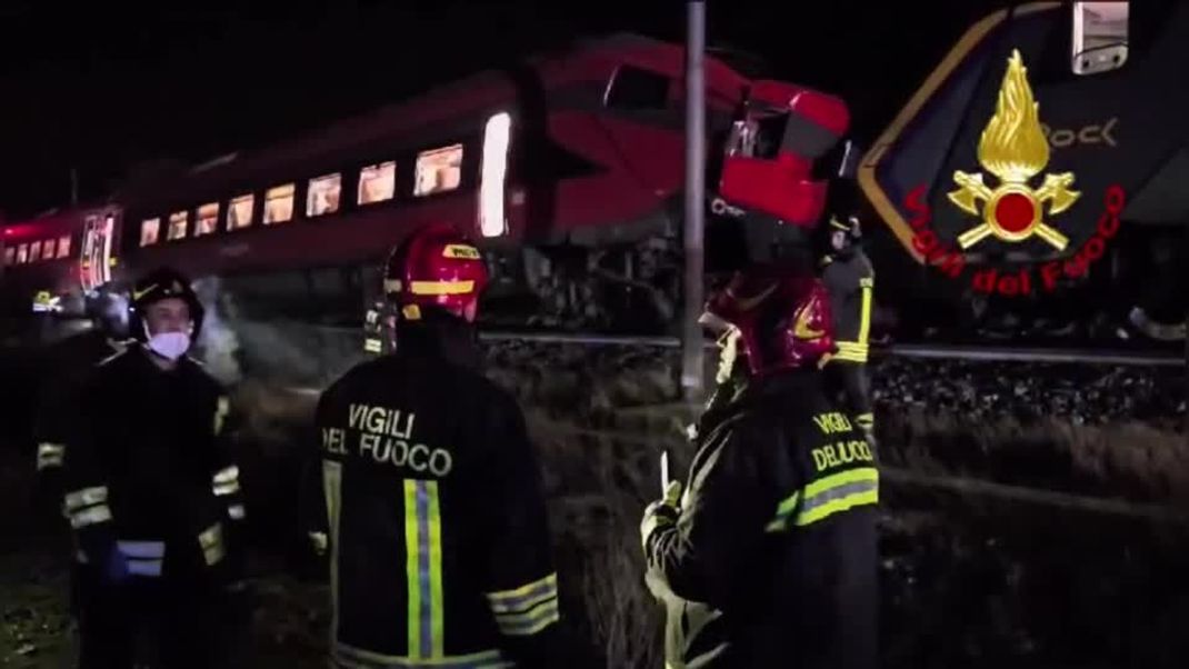
M831 362L867 362L867 337L872 328L872 291L875 270L862 248L845 255L828 255L822 280L830 291L835 341Z

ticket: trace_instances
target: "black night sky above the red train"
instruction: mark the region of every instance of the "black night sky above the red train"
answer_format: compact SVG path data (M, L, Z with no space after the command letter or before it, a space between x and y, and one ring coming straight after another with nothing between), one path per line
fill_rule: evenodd
M709 0L709 43L842 95L868 141L967 26L1006 5L769 1ZM87 200L131 165L256 147L575 37L685 31L674 0L177 5L0 2L10 220L68 203L71 166Z

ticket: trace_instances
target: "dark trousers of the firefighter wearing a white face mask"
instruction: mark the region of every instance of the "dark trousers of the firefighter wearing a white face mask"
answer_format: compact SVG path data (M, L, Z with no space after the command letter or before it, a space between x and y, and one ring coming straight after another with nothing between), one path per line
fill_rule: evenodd
M231 665L227 598L209 580L76 575L78 669Z

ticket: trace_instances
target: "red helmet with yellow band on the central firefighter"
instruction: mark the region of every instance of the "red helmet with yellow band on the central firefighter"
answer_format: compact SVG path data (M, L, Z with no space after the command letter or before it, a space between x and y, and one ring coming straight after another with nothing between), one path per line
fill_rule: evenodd
M384 267L384 295L410 321L421 318L423 307L465 317L486 285L487 266L479 250L445 223L409 235Z

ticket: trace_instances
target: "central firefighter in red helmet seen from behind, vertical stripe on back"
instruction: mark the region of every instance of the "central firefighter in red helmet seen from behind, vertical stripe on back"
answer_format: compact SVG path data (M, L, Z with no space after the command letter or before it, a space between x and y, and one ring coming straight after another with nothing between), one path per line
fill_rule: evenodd
M558 578L515 399L480 371L487 272L448 226L390 255L396 349L322 395L315 424L338 667L558 667Z

